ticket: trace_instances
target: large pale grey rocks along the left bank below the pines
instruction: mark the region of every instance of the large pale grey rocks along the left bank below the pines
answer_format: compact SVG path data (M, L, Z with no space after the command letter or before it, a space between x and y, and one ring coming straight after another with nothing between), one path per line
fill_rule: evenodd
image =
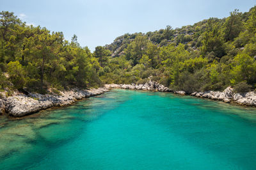
M21 117L49 107L70 105L76 100L100 95L106 91L108 91L107 88L90 90L72 89L70 91L61 91L60 95L40 95L38 93L29 93L28 96L15 95L6 99L5 111L12 116Z

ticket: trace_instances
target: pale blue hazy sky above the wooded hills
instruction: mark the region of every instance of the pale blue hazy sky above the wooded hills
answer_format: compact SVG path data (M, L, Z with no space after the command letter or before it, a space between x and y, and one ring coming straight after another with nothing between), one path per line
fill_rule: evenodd
M248 12L255 5L256 0L0 0L0 11L14 12L33 26L62 31L67 40L76 34L80 45L93 51L125 33L192 25L228 17L235 9Z

